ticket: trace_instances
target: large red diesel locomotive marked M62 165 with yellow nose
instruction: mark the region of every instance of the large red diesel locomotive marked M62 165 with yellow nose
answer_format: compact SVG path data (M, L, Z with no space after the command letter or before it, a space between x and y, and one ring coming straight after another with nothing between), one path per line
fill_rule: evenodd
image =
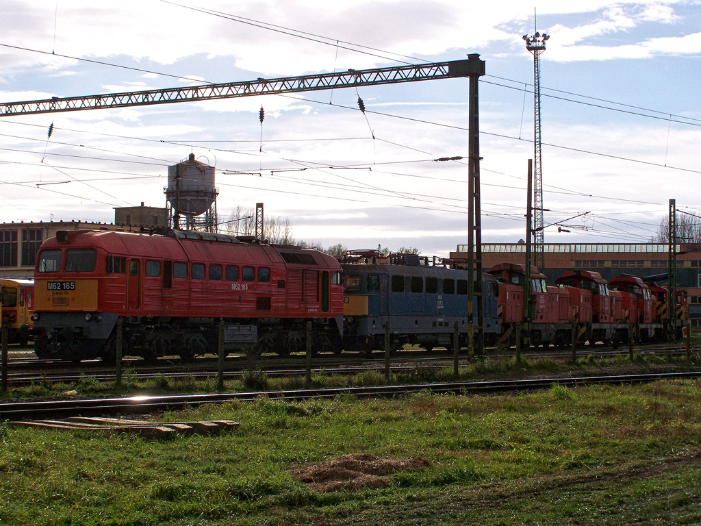
M41 245L34 281L39 358L191 358L217 349L286 354L340 349L341 265L305 248L172 231L60 231Z

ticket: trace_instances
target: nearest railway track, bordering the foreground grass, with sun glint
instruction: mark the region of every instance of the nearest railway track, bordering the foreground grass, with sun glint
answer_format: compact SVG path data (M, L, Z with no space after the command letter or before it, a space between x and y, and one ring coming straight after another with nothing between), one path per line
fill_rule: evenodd
M402 396L407 393L488 394L549 389L553 385L567 387L592 384L639 384L664 379L701 378L701 372L660 372L644 375L613 375L590 377L553 377L539 379L494 380L484 382L450 382L443 384L414 384L376 387L343 387L337 389L299 389L294 391L256 391L244 393L214 393L173 396L132 396L128 398L92 398L79 400L40 400L0 404L0 421L36 420L88 415L144 414L181 410L204 404L226 403L231 400L253 400L260 396L283 400L333 398L341 394L367 397Z

